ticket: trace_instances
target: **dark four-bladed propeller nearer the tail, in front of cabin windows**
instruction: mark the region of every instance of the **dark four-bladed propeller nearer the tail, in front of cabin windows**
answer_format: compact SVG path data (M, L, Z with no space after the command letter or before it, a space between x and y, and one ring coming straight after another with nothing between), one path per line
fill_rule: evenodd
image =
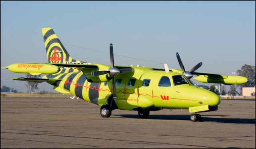
M110 65L111 67L108 70L103 70L103 71L94 71L91 74L93 76L97 76L97 75L104 75L104 74L108 74L108 77L110 77L112 80L112 93L113 93L113 99L116 100L116 84L115 84L115 79L114 76L118 75L119 73L126 73L126 72L133 72L133 68L122 68L122 69L118 69L114 67L114 52L113 52L113 44L110 43L109 46L109 50L110 50ZM110 107L112 106L112 101L110 102Z

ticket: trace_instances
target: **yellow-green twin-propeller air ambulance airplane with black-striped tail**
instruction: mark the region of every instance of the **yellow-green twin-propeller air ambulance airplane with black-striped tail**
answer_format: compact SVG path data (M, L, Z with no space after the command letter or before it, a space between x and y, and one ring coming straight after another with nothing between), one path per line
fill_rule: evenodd
M60 93L71 93L85 101L100 105L102 117L111 111L136 110L140 118L160 109L189 109L191 121L200 121L198 112L215 111L220 97L197 86L190 78L204 83L242 84L242 76L195 72L202 62L187 72L176 53L181 70L140 66L116 66L113 45L110 44L110 65L90 64L70 57L52 28L42 28L48 63L11 64L6 69L32 75L47 74L40 79L12 78L14 80L47 82Z

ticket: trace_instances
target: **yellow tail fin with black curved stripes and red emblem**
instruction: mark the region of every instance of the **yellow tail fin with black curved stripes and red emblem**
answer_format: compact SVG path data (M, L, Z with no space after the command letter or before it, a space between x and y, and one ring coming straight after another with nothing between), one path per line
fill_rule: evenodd
M52 28L42 28L42 33L49 63L88 64L86 62L72 59Z

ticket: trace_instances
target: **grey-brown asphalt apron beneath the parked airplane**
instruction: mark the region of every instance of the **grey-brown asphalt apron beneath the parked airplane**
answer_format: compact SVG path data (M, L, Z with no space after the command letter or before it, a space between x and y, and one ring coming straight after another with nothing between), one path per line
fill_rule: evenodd
M255 100L222 100L190 121L188 109L112 111L68 97L1 97L1 148L255 148Z

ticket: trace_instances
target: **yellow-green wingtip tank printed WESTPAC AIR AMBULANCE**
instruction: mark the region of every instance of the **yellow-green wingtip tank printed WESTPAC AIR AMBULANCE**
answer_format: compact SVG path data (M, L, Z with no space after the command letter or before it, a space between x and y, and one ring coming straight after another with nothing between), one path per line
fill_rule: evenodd
M50 65L50 64L15 63L5 68L10 70L11 72L27 73L32 75L56 74L57 72L60 71L60 68L58 66Z

